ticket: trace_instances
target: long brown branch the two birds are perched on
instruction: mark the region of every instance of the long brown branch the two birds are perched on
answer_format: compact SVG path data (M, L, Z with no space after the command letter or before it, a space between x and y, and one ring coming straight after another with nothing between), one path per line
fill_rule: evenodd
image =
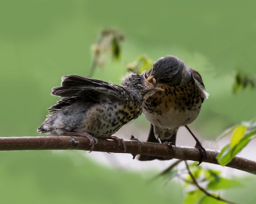
M176 158L178 160L198 161L200 154L195 147L173 146L173 151L166 144L157 144L151 142L140 142L134 140L124 141L127 146L127 151L124 152L122 146L118 146L116 141L98 139L98 144L95 145L96 152L114 152L127 154L143 154L149 156ZM59 137L15 137L15 138L0 138L0 151L5 150L41 150L41 149L78 149L90 150L91 146L87 138L80 136L59 136ZM207 159L203 162L208 162L218 165L217 154L215 150L206 149ZM227 167L244 170L248 173L256 174L256 162L247 160L243 157L234 157L227 164Z

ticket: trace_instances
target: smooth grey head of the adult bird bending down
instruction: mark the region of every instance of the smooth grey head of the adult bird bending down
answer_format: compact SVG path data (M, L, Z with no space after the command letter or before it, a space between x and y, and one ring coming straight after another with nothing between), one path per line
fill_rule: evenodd
M178 85L184 76L185 68L183 60L167 55L155 61L153 68L146 73L146 76L154 76L157 82L167 85Z

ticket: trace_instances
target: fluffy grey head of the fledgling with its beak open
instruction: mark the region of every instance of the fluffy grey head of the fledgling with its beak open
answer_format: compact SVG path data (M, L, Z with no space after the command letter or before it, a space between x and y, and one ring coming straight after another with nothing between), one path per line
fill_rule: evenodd
M121 86L127 88L127 90L137 97L143 97L143 100L146 100L148 97L154 93L157 93L158 91L164 91L161 88L155 87L146 80L145 71L143 71L143 74L127 74L124 76Z

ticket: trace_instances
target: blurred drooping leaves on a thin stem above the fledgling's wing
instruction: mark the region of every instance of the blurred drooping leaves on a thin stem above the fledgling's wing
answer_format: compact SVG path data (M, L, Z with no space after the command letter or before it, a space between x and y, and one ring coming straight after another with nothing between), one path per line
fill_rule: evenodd
M102 30L97 39L97 43L91 47L94 52L93 62L88 77L94 74L97 66L102 68L109 53L113 60L119 60L121 55L121 42L124 41L124 34L116 29L106 28Z

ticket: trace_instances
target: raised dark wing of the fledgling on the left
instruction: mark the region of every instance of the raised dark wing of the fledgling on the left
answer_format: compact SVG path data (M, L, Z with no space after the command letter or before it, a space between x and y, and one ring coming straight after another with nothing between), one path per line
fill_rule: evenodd
M59 97L79 97L94 102L124 101L130 97L124 87L78 75L63 76L61 87L53 87L52 91L52 95Z

